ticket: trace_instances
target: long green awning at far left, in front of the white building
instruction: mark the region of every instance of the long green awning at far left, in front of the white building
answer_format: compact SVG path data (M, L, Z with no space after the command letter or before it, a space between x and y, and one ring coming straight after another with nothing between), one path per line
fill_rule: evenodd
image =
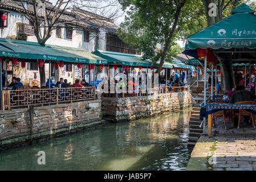
M0 56L17 57L21 59L46 59L56 61L66 61L74 63L99 63L106 61L101 57L90 54L84 49L75 49L70 47L45 45L41 46L36 42L27 42L23 40L12 40L0 38L0 49L6 48L0 52Z

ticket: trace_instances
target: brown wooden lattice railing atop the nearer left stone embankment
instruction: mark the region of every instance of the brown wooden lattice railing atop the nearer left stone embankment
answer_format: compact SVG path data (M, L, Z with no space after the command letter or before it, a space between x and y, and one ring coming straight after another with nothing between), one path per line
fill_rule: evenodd
M95 100L95 87L3 90L3 110Z

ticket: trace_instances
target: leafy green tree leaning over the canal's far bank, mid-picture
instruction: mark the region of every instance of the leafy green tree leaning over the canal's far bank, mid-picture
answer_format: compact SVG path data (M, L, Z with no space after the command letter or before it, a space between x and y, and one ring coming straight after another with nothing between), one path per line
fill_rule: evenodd
M119 0L123 10L129 8L125 21L121 23L117 35L130 46L139 46L143 59L160 64L156 73L161 71L166 56L172 54L170 48L180 35L179 17L182 7L190 2L186 0L141 1ZM172 55L170 55L172 56Z

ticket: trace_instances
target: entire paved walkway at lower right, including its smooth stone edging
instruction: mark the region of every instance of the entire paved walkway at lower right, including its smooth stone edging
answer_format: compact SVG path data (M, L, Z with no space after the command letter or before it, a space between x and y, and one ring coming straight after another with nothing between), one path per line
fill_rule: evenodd
M256 130L242 123L231 128L231 121L217 119L213 135L198 139L186 170L256 171Z

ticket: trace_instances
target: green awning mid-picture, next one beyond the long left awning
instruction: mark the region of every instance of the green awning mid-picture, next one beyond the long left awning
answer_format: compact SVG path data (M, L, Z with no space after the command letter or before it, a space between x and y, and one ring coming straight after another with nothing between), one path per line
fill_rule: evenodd
M155 64L147 60L142 60L141 56L132 55L129 53L111 52L111 51L94 51L94 55L102 57L111 64L121 64L129 66L142 66L142 67L152 67Z

